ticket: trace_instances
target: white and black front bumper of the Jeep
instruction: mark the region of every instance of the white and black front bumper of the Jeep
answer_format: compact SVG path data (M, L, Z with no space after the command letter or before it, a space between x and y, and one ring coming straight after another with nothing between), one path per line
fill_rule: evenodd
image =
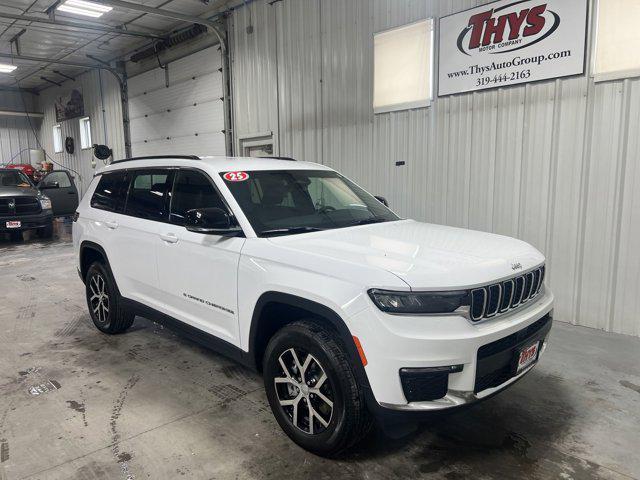
M535 366L518 374L511 371L517 349L539 341L538 359L544 354L552 308L548 290L513 312L478 323L453 315L388 315L372 305L350 319L352 333L368 359L370 407L394 413L432 412L473 403L507 388ZM488 351L491 345L495 348ZM445 375L441 397L407 400L401 371L443 367L455 369Z

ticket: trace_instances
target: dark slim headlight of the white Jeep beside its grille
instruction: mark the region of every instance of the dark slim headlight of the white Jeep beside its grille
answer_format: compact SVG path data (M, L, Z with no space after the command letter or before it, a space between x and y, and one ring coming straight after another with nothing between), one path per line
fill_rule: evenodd
M458 308L469 305L469 292L457 290L451 292L391 292L387 290L369 290L373 303L388 313L452 313Z

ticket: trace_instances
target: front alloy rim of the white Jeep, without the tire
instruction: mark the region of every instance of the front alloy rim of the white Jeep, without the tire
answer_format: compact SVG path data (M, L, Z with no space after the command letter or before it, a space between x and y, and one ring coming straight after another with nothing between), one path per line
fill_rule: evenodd
M310 353L294 348L284 351L278 363L281 376L274 384L280 407L304 433L322 433L333 417L334 402L324 367Z

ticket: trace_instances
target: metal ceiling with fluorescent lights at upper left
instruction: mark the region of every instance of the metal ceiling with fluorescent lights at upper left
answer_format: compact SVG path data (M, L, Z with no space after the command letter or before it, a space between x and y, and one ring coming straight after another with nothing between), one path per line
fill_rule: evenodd
M147 46L153 36L165 36L172 31L188 26L186 22L135 12L114 7L99 19L56 12L55 21L64 25L34 22L31 17L48 21L47 9L56 0L0 0L0 53L16 54L11 39L19 37L20 54L25 57L41 57L64 60L80 64L97 64L95 59L113 61L123 58L137 48ZM162 8L182 15L206 18L224 9L230 0L144 0L135 2L146 7ZM2 17L8 14L11 18ZM25 19L24 16L29 17ZM16 17L23 17L18 19ZM83 25L82 28L76 24ZM110 31L98 30L110 27ZM113 31L111 29L128 30ZM142 35L148 34L150 38ZM94 57L94 59L92 59ZM2 63L12 63L10 59L0 59ZM0 89L20 86L24 89L42 90L51 84L42 77L62 83L66 77L75 78L86 68L72 65L51 64L49 62L14 60L18 65L12 74L0 74Z

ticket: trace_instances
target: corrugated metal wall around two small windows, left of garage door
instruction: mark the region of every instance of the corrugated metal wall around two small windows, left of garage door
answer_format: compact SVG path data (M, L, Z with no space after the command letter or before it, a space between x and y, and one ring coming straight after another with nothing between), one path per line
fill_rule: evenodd
M82 89L85 115L91 119L93 143L106 144L113 149L114 158L124 158L124 129L120 87L110 73L93 70L79 76L75 82L65 82L62 87L48 88L40 93L40 105L44 111L40 128L42 146L55 162L80 174L81 178L76 178L76 183L84 194L95 170L104 164L101 160L96 160L96 166L93 167L93 150L80 149L80 126L77 118L61 122L63 141L66 137L72 137L75 141L75 153L54 153L53 150L53 126L58 123L54 108L55 99L77 87Z

